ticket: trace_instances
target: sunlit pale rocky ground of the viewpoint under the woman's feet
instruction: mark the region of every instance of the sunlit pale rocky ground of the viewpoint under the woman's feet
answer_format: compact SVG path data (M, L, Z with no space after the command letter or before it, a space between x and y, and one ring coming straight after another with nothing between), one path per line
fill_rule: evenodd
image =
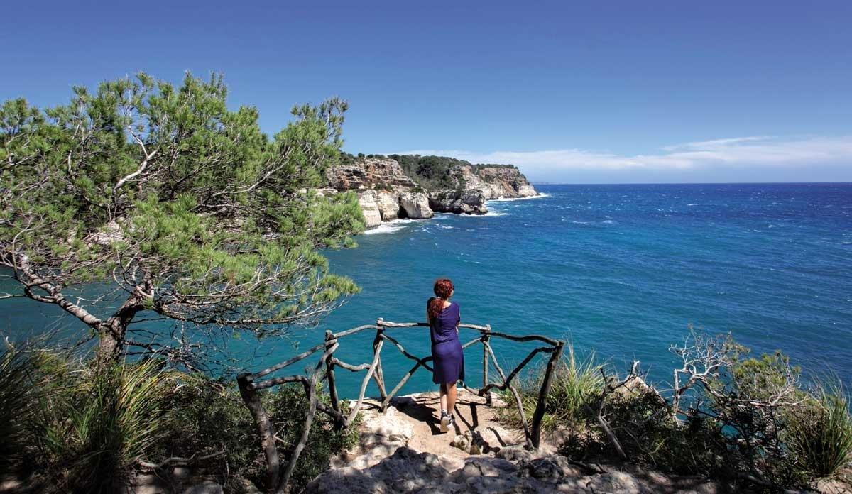
M571 462L556 454L552 435L543 438L540 451L527 451L521 445L523 434L501 425L495 409L472 393L459 393L458 419L449 433L441 433L437 426L439 408L436 393L394 399L384 414L375 402L366 401L360 445L335 458L331 469L305 492L722 491L705 479Z

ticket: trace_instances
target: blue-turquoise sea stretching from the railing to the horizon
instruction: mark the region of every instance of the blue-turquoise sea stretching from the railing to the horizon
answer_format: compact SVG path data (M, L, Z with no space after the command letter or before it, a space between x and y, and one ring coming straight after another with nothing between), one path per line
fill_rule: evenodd
M852 184L537 189L542 197L489 202L487 215L396 221L360 235L356 249L327 252L360 294L317 328L263 342L250 368L313 346L326 329L423 320L434 280L448 277L463 322L566 339L620 370L638 359L660 388L676 363L668 348L690 325L729 332L756 353L780 349L805 370L831 369L852 383ZM43 327L35 305L5 307L14 324ZM390 331L412 353L429 354L427 329ZM337 356L368 362L373 336L344 338ZM473 337L463 330L463 341ZM535 348L493 343L504 369ZM468 382L480 383L481 347L465 359ZM412 364L385 346L389 388ZM363 373L337 376L344 397L357 394ZM402 393L433 388L421 369Z

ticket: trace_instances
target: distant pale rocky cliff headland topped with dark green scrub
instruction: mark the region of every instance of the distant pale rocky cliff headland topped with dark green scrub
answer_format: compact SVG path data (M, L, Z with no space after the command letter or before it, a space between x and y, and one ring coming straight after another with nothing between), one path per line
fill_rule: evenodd
M440 156L344 154L325 176L335 191L358 192L367 228L397 218L430 218L435 211L482 215L488 212L486 200L538 195L514 165Z

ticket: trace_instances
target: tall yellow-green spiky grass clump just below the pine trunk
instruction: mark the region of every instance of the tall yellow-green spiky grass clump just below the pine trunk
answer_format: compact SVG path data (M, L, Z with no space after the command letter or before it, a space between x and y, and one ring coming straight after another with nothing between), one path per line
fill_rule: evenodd
M164 433L162 365L50 364L39 369L46 381L32 461L57 490L115 491Z

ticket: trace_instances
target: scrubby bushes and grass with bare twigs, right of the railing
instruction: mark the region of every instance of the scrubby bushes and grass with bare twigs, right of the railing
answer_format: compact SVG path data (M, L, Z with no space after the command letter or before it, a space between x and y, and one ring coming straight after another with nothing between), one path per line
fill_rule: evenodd
M685 409L632 374L599 378L605 367L569 350L543 422L566 434L561 453L584 462L620 461L617 442L630 462L644 467L769 491L807 488L848 474L852 415L837 379L801 388L801 370L785 354L751 357L729 336L694 336L694 344L682 350L675 353L688 362L684 368L699 376L683 395L682 403L690 404ZM702 374L708 363L719 365ZM538 382L540 376L521 387L527 416ZM504 399L512 402L508 395ZM504 411L515 425L516 415Z

